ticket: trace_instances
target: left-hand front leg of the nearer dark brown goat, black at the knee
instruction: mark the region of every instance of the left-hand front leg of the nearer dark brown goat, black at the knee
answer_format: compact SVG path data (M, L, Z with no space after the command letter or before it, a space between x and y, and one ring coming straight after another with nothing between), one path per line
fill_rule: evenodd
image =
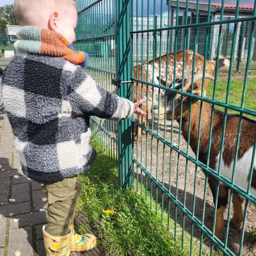
M211 176L209 176L209 186L211 188L213 202L215 204L217 180ZM224 230L224 212L227 209L227 204L228 204L228 188L225 185L220 184L217 213L216 213L216 225L214 230L215 236L217 236L219 239L222 237L222 233Z

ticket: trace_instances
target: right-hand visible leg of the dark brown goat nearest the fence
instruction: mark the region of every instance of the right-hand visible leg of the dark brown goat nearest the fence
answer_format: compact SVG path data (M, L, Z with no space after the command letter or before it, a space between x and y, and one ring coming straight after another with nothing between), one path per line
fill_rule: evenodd
M244 214L243 214L243 199L239 194L234 191L232 203L234 205L233 217L230 220L230 226L234 228L241 228L243 226Z

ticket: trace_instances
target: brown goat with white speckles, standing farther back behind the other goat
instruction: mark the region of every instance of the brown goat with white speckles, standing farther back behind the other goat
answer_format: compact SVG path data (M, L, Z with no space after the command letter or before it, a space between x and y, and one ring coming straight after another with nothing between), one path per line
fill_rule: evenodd
M182 76L182 67L183 67L183 55L184 51L177 52L177 59L176 59L176 73L175 73L175 79ZM173 72L174 72L174 57L175 53L172 52L161 56L161 63L160 58L156 58L154 61L150 60L148 63L145 63L143 65L139 65L134 67L134 78L140 79L142 81L148 81L149 83L155 83L159 84L159 80L157 77L159 77L159 69L161 66L161 79L166 80L166 72L168 74L168 81L167 84L170 84L173 82ZM193 68L193 51L187 50L186 56L185 56L185 70L184 73L192 70ZM168 59L168 63L167 63ZM219 67L225 66L225 61L227 61L225 58L220 58L219 60ZM216 58L213 60L206 61L206 72L209 74L213 74L216 67ZM153 69L154 69L154 77L153 77ZM196 72L203 72L204 70L204 57L196 52L195 56L195 70ZM148 79L148 80L147 80ZM209 79L205 80L205 85L207 86L209 84ZM165 86L165 84L164 84ZM142 88L141 88L142 87ZM145 113L151 113L152 111L152 97L154 95L154 104L158 102L158 95L159 95L159 88L153 87L153 86L147 86L146 84L141 84L134 82L134 102L140 99L146 99L147 93L148 93L148 109L146 104L143 105L143 111ZM153 92L154 90L154 92ZM138 92L138 95L137 95ZM164 93L164 90L161 90L161 94ZM147 119L147 116L140 117L138 122L140 124L144 124ZM147 125L147 124L146 124ZM143 132L145 134L145 131ZM138 127L137 135L135 136L134 140L137 140L141 136L141 128Z

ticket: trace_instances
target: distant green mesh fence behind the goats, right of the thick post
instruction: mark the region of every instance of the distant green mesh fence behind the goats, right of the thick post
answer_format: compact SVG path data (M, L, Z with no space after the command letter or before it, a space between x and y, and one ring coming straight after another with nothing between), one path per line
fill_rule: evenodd
M138 21L137 21L138 18ZM220 17L212 17L212 22L218 22L220 21ZM229 20L230 17L223 17L222 20ZM175 26L176 22L179 25L186 24L186 18L184 16L179 17L170 17L169 23L170 26ZM195 17L188 17L188 24L195 24L196 18ZM200 17L198 18L198 22L204 24L204 22L207 22L207 17ZM142 17L134 17L133 18L133 28L138 28L139 30L143 29L154 29L154 28L166 28L168 24L168 17L160 17L159 15L156 15L156 17L143 17L143 27L142 27ZM245 22L238 22L237 23L237 35L236 35L236 47L234 52L234 64L233 64L233 71L240 71L244 72L246 68L246 61L248 56L248 47L249 47L249 41L250 41L250 29L251 29L252 22L250 20L247 20ZM187 38L186 38L186 48L187 49L194 49L194 45L196 43L196 52L202 54L203 56L207 56L209 60L214 58L218 51L218 37L219 37L219 25L213 25L211 26L211 30L209 31L209 40L208 40L208 47L207 52L205 52L205 33L207 31L207 26L201 26L197 29L197 35L195 37L195 28L188 28L187 31ZM175 49L175 45L177 45L177 50L181 51L184 47L184 39L185 39L185 31L186 29L179 29L177 31L177 37L175 37L175 31L167 31L163 30L161 33L158 32L156 35L156 56L159 56L160 47L159 42L161 40L162 47L161 52L162 54L166 54L167 47L169 47L168 51L173 52ZM233 38L233 31L234 31L234 23L227 23L223 24L221 28L221 38L220 38L220 54L222 56L225 56L227 58L230 58L231 54L231 48L232 48L232 38ZM254 35L255 35L256 28L254 29ZM168 36L169 35L169 36ZM177 42L175 42L175 38L177 38ZM196 41L195 41L196 38ZM167 44L168 39L168 44ZM148 33L148 36L144 36L143 42L142 42L142 34L138 35L138 49L135 47L135 51L133 52L134 57L136 58L136 55L138 55L139 58L141 58L141 54L143 52L144 61L147 61L147 40L149 40L149 54L150 54L150 60L152 60L152 52L154 47L154 32ZM144 47L141 47L141 45L144 45ZM138 51L138 52L137 52ZM250 70L256 70L256 44L255 44L255 36L253 39L253 47L252 47L252 53L250 58ZM136 65L136 63L134 63ZM222 71L228 72L228 68L224 68Z

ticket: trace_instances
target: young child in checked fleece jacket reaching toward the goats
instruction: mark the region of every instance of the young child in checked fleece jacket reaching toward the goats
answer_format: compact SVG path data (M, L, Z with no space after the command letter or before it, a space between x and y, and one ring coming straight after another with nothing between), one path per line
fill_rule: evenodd
M2 93L22 171L42 184L48 198L45 250L61 256L90 250L96 237L75 234L72 224L82 193L77 174L96 158L89 118L143 116L138 106L144 100L117 97L84 72L88 56L72 47L77 26L73 0L15 0L13 9L22 27Z

